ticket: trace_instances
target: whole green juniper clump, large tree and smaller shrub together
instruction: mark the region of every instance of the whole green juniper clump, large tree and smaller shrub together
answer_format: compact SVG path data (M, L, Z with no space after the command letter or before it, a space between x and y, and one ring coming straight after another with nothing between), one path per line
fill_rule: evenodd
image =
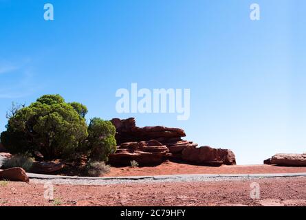
M65 102L59 95L45 95L29 107L14 107L0 139L10 153L39 151L45 159L71 159L86 154L107 161L116 151L116 129L109 121L94 118L89 126L87 107Z

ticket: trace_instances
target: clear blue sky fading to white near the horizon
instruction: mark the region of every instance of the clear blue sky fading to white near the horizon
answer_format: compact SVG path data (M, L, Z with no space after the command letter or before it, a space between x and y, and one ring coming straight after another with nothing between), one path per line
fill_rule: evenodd
M43 5L54 5L54 21ZM251 21L259 3L261 20ZM303 0L0 0L0 131L12 102L61 94L88 118L181 127L238 164L306 152ZM119 114L117 89L190 89L190 118Z

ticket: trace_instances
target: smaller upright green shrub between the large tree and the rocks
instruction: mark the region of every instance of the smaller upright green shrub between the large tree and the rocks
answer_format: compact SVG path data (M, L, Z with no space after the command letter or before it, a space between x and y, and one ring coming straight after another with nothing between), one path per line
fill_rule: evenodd
M94 118L88 126L87 148L89 157L107 162L110 153L116 151L116 128L109 121Z

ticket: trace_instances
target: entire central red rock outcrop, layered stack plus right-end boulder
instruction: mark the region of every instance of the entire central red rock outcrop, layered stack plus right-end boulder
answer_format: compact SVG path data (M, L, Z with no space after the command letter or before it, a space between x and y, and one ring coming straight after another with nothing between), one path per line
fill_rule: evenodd
M118 150L109 155L113 165L130 165L135 160L141 166L161 164L166 159L203 165L235 164L229 150L197 148L197 144L182 140L184 130L165 126L136 126L134 118L111 120L116 127ZM197 155L200 153L200 155ZM206 161L206 162L204 162Z

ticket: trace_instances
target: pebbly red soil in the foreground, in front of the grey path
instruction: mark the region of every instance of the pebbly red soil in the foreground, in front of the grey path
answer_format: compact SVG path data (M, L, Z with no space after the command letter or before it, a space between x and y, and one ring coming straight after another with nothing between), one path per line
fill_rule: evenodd
M250 184L260 186L251 199ZM306 206L306 178L248 181L165 182L108 186L54 186L54 201L42 184L9 182L0 186L0 206Z

